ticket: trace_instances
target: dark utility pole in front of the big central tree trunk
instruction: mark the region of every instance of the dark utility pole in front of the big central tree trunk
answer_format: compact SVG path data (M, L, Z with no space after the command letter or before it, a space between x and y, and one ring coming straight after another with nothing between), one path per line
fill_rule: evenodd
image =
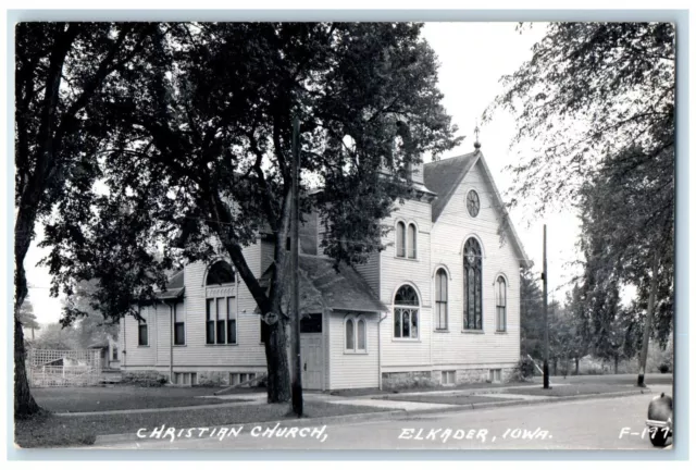
M299 207L299 178L300 178L300 145L299 136L300 123L297 118L293 120L293 212L290 214L290 261L293 267L291 283L291 305L293 305L293 412L298 418L302 416L302 359L300 357L300 207Z

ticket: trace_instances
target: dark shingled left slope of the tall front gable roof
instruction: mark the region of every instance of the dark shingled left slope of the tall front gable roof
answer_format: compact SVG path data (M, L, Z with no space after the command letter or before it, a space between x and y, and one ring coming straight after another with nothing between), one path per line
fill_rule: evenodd
M437 194L432 203L433 222L437 221L461 181L476 163L481 152L473 151L459 157L443 159L423 165L425 186Z

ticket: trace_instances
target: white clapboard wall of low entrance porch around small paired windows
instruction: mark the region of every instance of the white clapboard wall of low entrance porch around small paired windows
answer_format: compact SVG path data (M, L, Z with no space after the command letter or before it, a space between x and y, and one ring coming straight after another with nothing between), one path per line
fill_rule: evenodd
M377 321L378 313L365 313L366 321L366 354L351 354L345 351L344 319L346 313L332 312L328 316L328 335L331 342L328 359L328 388L369 388L377 387L380 376L377 372ZM356 338L357 339L357 338Z

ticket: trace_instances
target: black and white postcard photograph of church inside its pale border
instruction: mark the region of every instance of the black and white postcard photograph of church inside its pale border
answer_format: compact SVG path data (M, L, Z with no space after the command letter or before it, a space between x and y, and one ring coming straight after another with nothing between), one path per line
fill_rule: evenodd
M675 23L8 27L17 450L679 448Z

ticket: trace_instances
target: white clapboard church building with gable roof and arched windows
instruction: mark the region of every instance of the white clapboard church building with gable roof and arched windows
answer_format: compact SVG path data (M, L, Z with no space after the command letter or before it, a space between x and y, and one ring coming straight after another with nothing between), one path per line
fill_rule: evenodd
M316 213L301 230L301 358L319 391L507 381L520 358L520 267L530 261L476 151L422 165L414 197L384 223L387 248L339 272ZM272 238L244 255L264 283ZM142 321L121 321L122 371L182 384L265 373L264 323L231 263L191 263Z

